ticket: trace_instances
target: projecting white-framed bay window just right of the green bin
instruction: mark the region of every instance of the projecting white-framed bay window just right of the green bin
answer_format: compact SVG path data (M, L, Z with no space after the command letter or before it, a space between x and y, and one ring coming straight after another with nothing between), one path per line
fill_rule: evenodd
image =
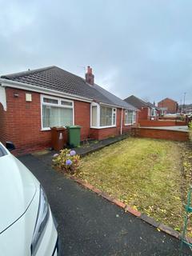
M98 103L91 103L91 127L106 128L116 126L116 108L100 106Z

